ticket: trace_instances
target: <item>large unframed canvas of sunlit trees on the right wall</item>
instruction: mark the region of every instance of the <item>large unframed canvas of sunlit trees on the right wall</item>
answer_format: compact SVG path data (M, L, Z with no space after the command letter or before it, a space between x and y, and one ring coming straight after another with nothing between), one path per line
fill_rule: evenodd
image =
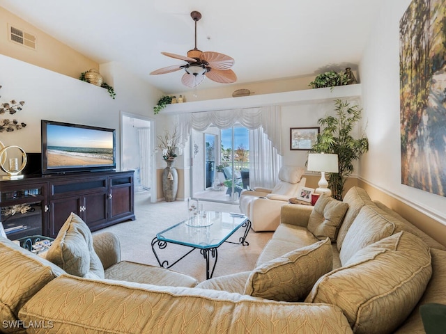
M401 182L446 196L446 0L413 0L399 22Z

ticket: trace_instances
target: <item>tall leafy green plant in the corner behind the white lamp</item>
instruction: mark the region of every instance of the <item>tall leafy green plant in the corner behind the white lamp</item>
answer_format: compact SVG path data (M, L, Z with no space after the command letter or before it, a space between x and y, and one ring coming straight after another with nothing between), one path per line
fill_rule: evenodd
M327 116L318 120L318 124L324 129L318 134L317 142L309 152L337 154L339 173L329 174L328 187L333 198L342 200L346 179L353 173L353 161L360 159L369 150L369 141L365 134L359 139L351 135L353 127L361 119L362 109L341 100L336 100L334 106L337 117Z

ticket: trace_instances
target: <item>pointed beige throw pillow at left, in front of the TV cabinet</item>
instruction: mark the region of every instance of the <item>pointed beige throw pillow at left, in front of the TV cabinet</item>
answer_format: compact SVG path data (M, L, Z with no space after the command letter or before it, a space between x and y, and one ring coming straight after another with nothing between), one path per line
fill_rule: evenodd
M46 258L72 275L104 278L104 267L93 249L90 229L76 214L71 213L63 224Z

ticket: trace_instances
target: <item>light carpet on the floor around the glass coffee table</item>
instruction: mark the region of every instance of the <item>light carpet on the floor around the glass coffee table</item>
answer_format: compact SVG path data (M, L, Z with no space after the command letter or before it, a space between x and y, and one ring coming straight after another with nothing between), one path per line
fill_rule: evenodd
M240 212L238 205L217 202L201 201L203 209L217 212ZM187 218L187 204L176 202L150 202L149 192L135 193L134 212L135 221L126 221L93 232L113 232L121 241L121 260L140 262L159 266L151 241L157 234L171 225L175 225ZM238 241L243 235L244 228L240 228L231 236L232 241ZM224 276L230 273L249 271L254 269L261 250L270 240L272 232L249 231L246 241L249 246L224 243L218 248L218 260L213 277ZM157 250L161 260L173 263L180 255L187 253L190 248L168 244L163 250ZM171 270L186 273L200 282L206 280L206 262L199 250L194 250L183 260L174 264Z

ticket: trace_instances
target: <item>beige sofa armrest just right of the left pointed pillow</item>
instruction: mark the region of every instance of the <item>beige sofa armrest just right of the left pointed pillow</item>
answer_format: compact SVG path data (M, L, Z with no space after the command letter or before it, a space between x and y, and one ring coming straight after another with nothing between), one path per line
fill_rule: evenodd
M118 236L112 232L93 234L93 248L104 269L121 261L121 244Z

